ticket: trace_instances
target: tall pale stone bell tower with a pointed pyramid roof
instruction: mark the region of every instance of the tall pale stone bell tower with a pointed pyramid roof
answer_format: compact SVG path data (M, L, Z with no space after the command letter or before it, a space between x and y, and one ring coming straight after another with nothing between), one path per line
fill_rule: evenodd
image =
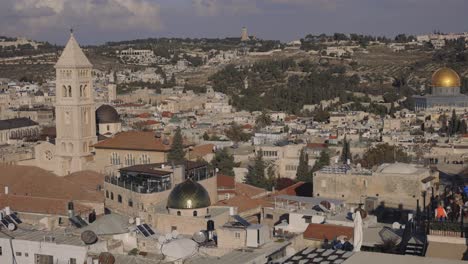
M55 65L57 175L85 170L92 159L90 146L97 140L92 68L72 31Z

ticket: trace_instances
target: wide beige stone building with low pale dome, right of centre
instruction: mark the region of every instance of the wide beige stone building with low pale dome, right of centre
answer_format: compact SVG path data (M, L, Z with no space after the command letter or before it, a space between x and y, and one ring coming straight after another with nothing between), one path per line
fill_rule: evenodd
M375 171L353 169L348 165L328 166L314 175L314 196L363 203L376 197L386 206L416 208L421 192L428 191L438 175L413 164L383 164Z

